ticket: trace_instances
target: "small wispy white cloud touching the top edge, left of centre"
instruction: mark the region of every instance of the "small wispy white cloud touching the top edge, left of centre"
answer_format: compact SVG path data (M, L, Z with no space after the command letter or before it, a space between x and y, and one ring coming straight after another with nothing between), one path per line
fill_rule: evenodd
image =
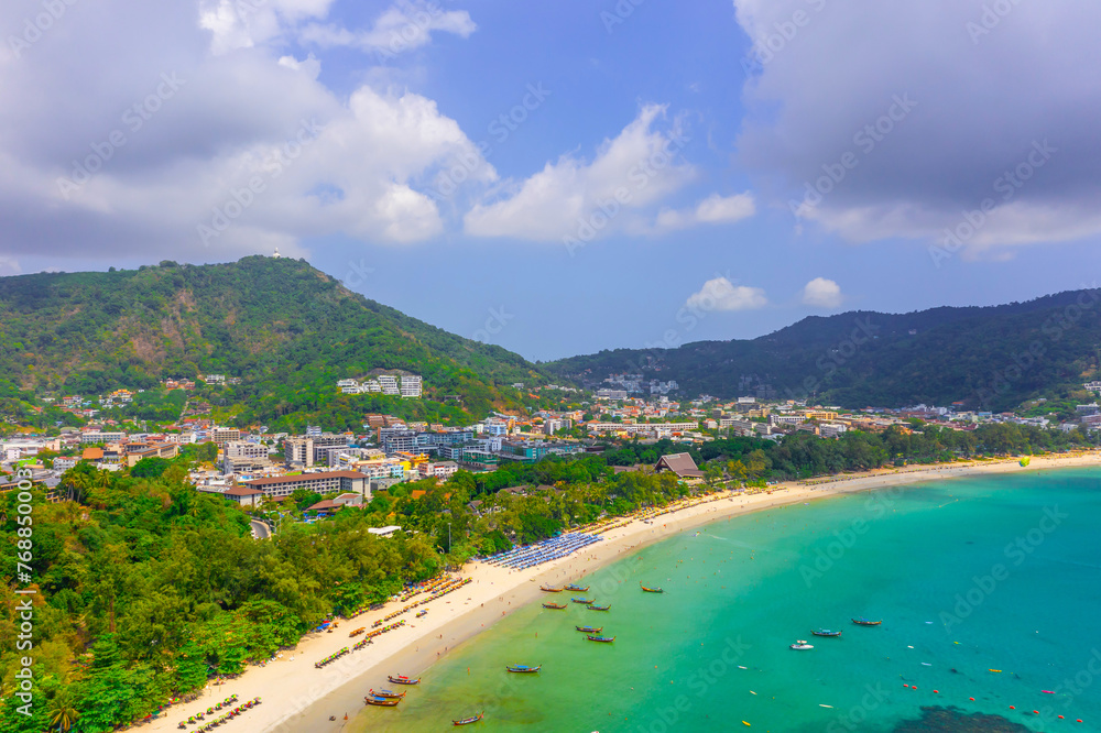
M334 24L312 23L302 30L299 40L323 48L351 46L385 58L427 45L433 32L466 39L476 30L478 25L465 10L444 11L432 2L407 0L382 13L370 29L349 31Z

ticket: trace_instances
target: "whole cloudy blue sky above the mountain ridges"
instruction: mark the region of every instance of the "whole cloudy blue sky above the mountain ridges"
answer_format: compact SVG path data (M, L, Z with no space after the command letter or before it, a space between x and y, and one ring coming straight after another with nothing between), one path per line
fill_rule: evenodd
M1101 6L9 0L0 275L304 258L532 360L1095 285Z

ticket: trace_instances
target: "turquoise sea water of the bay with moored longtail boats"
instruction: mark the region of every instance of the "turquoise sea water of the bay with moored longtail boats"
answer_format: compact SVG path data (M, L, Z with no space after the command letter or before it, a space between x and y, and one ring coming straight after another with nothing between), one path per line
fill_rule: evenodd
M523 609L428 669L397 709L364 709L349 730L440 731L484 712L468 730L1101 731L1098 470L759 512L582 584L611 610ZM810 635L821 627L843 633ZM792 650L796 639L815 648ZM510 675L510 663L543 670Z

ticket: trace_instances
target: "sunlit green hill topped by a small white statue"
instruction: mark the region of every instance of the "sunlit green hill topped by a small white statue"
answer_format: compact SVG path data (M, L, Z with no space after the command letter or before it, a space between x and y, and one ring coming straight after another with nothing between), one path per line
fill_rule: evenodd
M421 374L426 398L338 394L337 380L374 369ZM480 416L512 405L501 385L538 378L523 358L369 300L305 261L0 278L11 386L99 394L205 373L242 378L225 395L246 405L240 420L333 427L399 403L411 416Z

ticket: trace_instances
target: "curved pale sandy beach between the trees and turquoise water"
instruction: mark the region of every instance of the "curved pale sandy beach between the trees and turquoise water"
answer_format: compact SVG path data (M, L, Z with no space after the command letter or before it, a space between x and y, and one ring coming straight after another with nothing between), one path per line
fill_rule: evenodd
M490 627L494 622L527 603L546 597L543 583L562 584L579 579L652 543L700 525L768 507L810 501L824 496L945 480L983 473L1016 473L1056 468L1101 464L1101 452L1077 452L1033 458L1027 467L1017 459L973 461L901 469L881 469L865 473L787 482L767 492L733 494L719 492L709 501L665 514L652 522L632 519L603 535L603 540L566 558L527 570L508 570L480 562L467 564L459 573L471 582L422 609L422 619L413 613L401 616L405 626L382 634L366 648L338 661L315 669L314 663L356 641L348 632L371 624L403 604L391 602L355 620L341 621L333 633L312 634L293 652L263 667L250 667L243 675L221 687L209 688L197 700L171 708L166 715L144 731L175 731L177 723L214 701L238 694L242 700L260 696L263 704L219 727L233 731L281 731L284 733L340 731L348 719L363 707L368 688L393 687L386 675L417 675L464 641ZM560 597L553 597L560 600ZM418 599L414 599L418 600ZM361 637L360 637L361 638ZM329 721L335 715L336 721ZM187 730L194 731L190 725Z

